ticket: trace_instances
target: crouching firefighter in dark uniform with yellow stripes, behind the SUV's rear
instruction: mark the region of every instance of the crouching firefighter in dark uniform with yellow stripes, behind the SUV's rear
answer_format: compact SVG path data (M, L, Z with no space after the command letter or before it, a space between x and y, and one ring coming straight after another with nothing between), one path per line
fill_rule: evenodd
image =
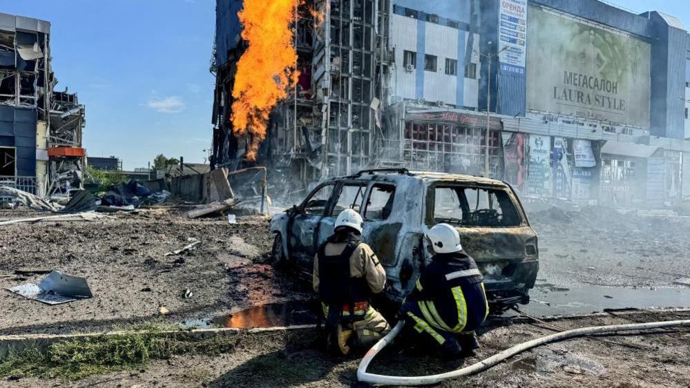
M483 277L452 226L437 224L427 238L434 256L405 298L401 318L410 336L439 356L471 355L479 348L475 329L489 312Z

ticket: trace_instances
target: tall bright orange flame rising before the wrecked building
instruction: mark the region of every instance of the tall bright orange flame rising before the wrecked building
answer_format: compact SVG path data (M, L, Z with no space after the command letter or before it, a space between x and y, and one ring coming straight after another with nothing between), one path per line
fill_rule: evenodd
M248 137L246 159L256 160L266 139L271 110L296 84L297 52L293 46L295 9L299 0L245 0L238 13L242 38L249 46L237 64L232 96L232 124L236 135Z

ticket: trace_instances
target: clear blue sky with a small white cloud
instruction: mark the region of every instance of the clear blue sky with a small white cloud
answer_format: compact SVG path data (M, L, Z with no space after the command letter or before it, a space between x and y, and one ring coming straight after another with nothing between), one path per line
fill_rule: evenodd
M687 0L612 2L660 10L690 28ZM158 153L204 160L215 0L5 0L0 12L52 23L58 88L68 86L86 105L89 155L116 155L126 169Z

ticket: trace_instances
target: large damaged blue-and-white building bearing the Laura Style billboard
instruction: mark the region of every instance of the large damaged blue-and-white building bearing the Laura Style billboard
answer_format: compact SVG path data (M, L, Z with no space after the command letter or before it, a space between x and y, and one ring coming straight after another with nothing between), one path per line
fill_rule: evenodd
M211 64L213 165L230 169L246 164L230 119L242 8L217 1ZM300 77L258 155L284 190L404 166L582 204L690 197L690 39L675 17L596 0L315 0L294 28Z

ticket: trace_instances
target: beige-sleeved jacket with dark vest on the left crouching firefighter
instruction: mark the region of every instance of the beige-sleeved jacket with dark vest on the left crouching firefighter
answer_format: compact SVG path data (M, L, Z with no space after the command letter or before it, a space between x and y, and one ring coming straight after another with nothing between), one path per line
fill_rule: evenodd
M349 315L351 307L355 315L363 315L372 293L385 287L385 270L361 238L336 234L314 258L313 282L320 300L343 307L343 316Z

